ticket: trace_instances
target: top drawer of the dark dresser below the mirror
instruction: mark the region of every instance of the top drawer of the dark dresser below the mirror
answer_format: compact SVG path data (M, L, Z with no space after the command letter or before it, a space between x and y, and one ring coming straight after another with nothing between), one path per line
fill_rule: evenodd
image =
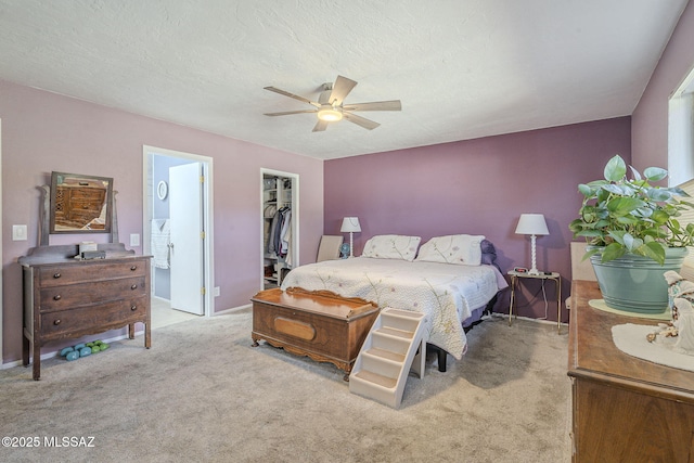
M48 287L102 279L144 276L145 270L145 260L108 262L107 259L103 259L72 265L44 266L39 270L38 278L39 285Z

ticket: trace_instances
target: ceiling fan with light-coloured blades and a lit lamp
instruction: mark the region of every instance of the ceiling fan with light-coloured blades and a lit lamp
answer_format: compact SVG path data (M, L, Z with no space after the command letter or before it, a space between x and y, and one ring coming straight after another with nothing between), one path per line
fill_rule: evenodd
M290 114L301 113L317 113L318 123L313 127L314 132L323 131L327 128L330 123L336 123L343 118L349 120L352 124L363 127L364 129L373 130L381 124L367 119L361 116L352 114L355 111L400 111L400 100L390 101L374 101L370 103L354 103L346 104L345 98L349 94L351 89L357 85L356 81L348 79L347 77L337 76L335 83L326 82L322 86L321 94L318 98L318 102L311 101L307 98L299 97L294 93L290 93L284 90L280 90L274 87L265 87L266 90L270 90L275 93L283 94L285 97L293 98L294 100L303 101L311 106L313 110L301 111L285 111L282 113L266 113L266 116L286 116Z

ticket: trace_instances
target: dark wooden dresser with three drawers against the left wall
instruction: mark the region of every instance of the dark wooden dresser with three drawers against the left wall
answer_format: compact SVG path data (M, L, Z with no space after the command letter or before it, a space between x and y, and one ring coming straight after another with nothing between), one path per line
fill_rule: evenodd
M41 346L48 342L97 334L144 323L151 346L150 256L136 256L123 244L99 245L105 259L78 260L76 245L39 246L20 258L24 274L22 359L34 359L41 375Z

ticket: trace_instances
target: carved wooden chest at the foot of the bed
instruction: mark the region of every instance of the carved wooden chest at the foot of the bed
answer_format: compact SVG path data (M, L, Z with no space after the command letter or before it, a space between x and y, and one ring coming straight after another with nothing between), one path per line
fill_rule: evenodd
M345 381L378 316L372 303L330 292L274 288L250 300L254 346L265 339L292 353L332 362L345 371Z

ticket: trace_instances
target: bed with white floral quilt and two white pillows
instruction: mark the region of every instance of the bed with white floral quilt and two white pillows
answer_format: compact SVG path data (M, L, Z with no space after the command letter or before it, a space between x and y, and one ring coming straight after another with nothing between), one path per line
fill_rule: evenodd
M281 288L327 290L381 308L426 313L427 343L442 349L439 370L446 371L445 353L463 357L465 326L480 319L507 283L496 266L493 245L483 235L437 236L419 244L417 236L374 236L361 257L300 266L286 274Z

